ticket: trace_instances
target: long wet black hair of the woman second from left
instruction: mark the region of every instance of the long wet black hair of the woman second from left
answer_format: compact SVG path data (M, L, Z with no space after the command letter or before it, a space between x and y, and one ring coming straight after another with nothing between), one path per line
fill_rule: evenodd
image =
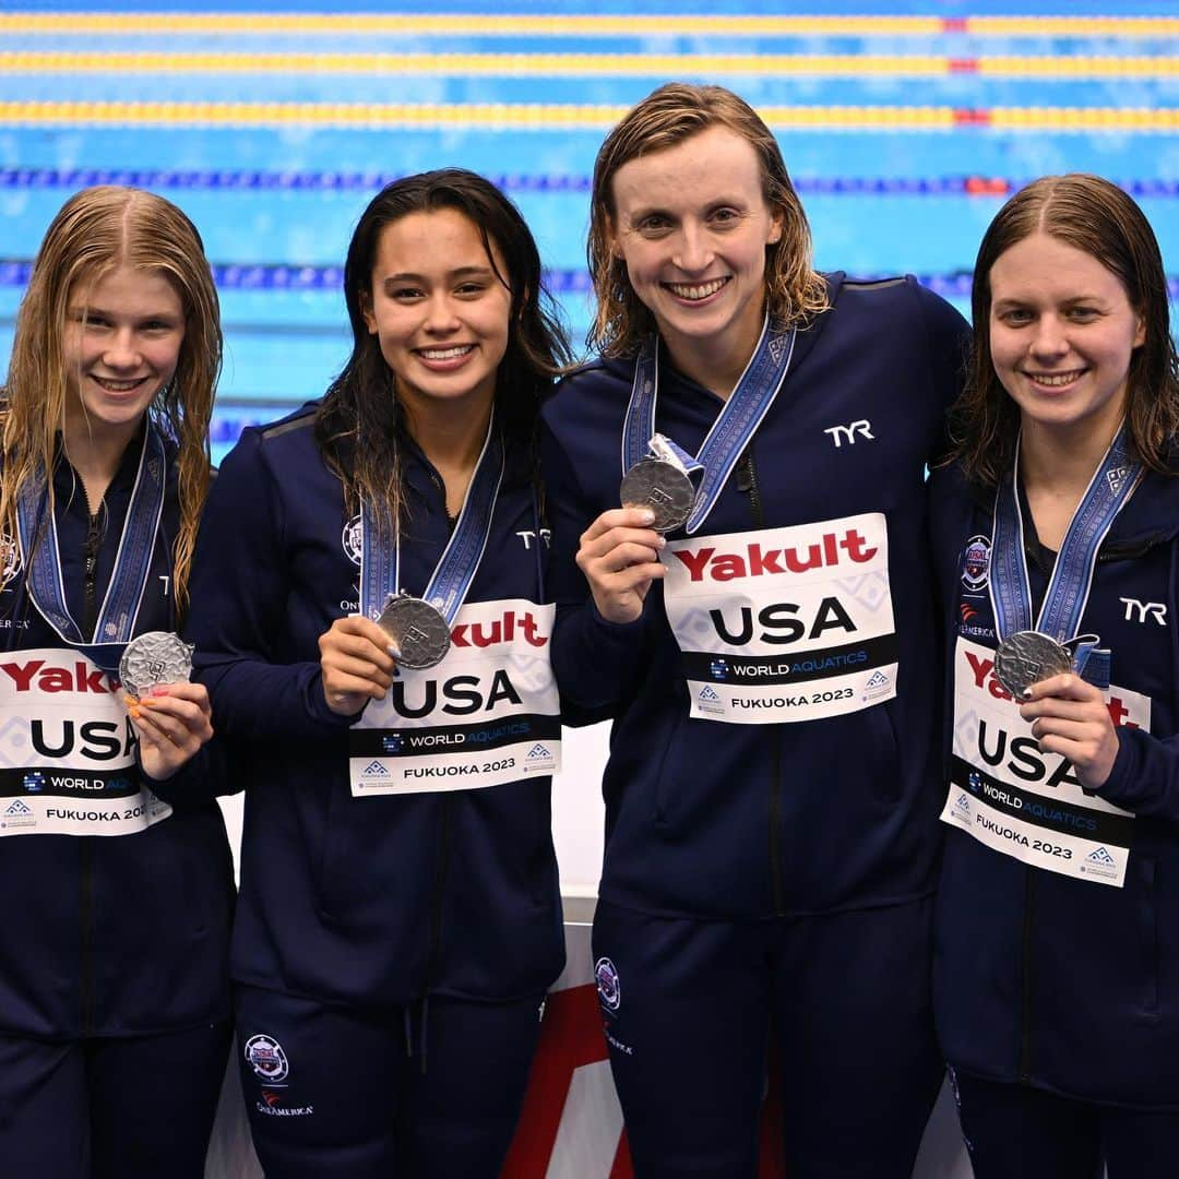
M353 354L316 413L315 435L344 485L350 515L361 501L377 527L394 529L403 515L397 435L404 410L381 344L364 320L371 305L373 268L387 225L416 212L454 209L479 230L492 270L512 295L508 344L495 378L495 415L505 437L535 453L540 404L553 378L571 363L568 343L541 282L540 252L520 211L490 182L465 169L394 180L361 215L344 263L344 301L353 325ZM494 243L507 274L492 250ZM534 462L533 469L536 469Z

